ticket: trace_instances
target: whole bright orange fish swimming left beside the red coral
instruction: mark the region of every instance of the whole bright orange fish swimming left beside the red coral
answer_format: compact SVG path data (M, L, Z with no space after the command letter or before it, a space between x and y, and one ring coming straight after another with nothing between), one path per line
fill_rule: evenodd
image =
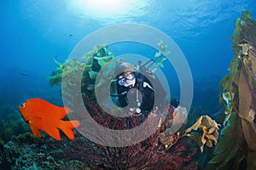
M61 129L69 139L74 139L72 129L80 125L79 121L61 120L67 116L70 109L52 105L44 99L28 99L19 106L19 111L35 137L40 137L39 130L43 130L52 138L60 140Z

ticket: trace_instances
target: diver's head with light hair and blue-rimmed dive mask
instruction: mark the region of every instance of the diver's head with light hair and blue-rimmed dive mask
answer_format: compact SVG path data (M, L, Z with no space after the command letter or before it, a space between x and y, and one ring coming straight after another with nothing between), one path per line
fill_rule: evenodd
M119 86L133 87L136 82L134 71L136 71L136 68L130 63L124 62L117 65L114 73L117 75L116 78Z

